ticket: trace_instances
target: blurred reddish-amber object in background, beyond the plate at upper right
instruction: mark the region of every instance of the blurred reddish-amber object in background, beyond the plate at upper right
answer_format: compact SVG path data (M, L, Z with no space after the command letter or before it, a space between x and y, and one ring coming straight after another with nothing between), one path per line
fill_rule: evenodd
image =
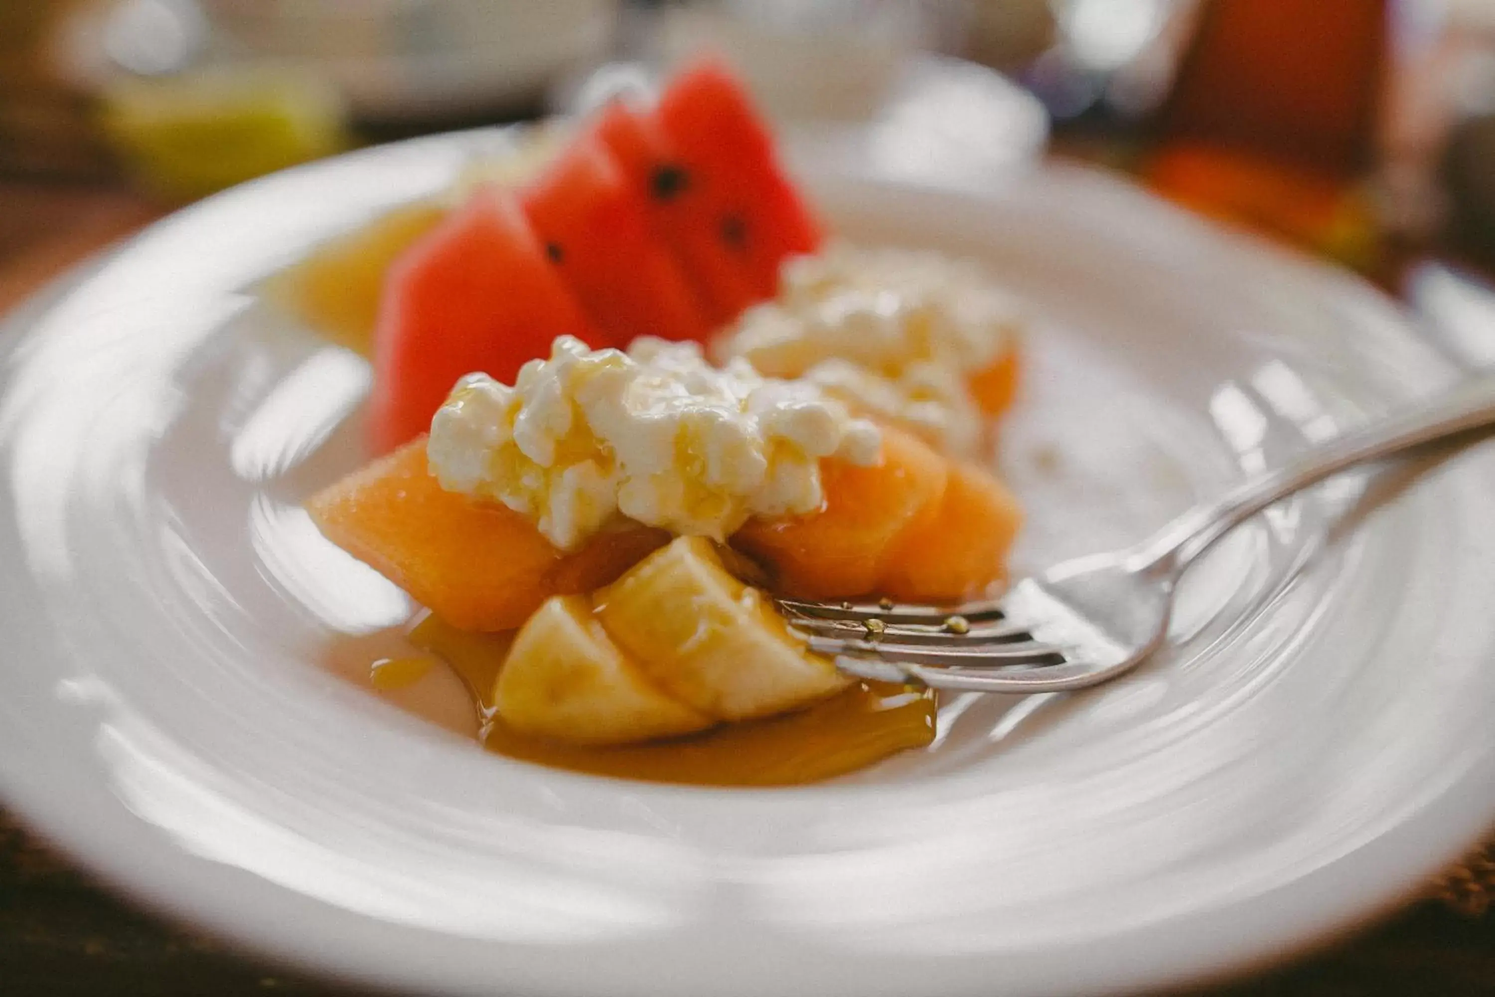
M1142 167L1160 193L1374 271L1386 0L1206 0Z

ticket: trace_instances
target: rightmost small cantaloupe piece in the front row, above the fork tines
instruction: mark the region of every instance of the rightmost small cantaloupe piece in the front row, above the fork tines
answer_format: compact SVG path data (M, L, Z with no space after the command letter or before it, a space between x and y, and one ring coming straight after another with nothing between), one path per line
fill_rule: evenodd
M1006 574L1023 526L1012 493L973 463L951 462L939 513L916 522L894 546L879 595L903 602L960 602Z

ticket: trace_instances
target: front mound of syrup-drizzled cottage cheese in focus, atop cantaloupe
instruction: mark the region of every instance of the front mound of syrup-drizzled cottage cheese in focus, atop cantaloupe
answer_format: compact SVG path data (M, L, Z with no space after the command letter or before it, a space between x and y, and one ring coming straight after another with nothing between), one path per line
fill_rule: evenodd
M431 423L444 489L534 517L574 550L619 516L725 540L749 516L818 510L819 460L879 460L878 427L806 381L697 344L641 338L626 353L561 336L513 387L469 374Z

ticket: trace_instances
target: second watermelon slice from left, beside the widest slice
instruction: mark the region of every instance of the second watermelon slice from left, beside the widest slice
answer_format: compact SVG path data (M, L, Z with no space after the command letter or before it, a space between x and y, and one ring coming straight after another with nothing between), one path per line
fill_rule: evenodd
M701 339L709 320L644 199L601 142L582 136L523 194L525 212L592 323L634 336Z

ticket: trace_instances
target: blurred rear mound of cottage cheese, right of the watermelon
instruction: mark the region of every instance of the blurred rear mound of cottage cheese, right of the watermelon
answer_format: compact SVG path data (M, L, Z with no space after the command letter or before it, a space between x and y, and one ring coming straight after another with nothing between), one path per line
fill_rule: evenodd
M768 377L803 377L954 453L982 439L970 378L1018 336L1014 299L939 253L833 244L785 263L779 296L713 344Z

